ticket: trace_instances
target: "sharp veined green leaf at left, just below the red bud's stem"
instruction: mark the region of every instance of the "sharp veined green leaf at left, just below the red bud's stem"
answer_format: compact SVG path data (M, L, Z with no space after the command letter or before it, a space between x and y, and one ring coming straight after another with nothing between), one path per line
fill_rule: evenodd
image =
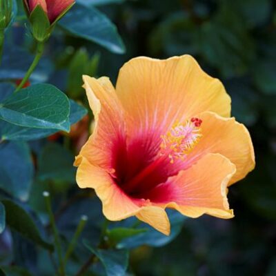
M70 102L50 84L36 84L0 104L0 119L17 126L70 130Z

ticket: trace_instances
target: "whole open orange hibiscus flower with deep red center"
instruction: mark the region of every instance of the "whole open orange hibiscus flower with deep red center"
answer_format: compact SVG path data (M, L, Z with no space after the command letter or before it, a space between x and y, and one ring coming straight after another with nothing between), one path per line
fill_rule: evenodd
M111 221L136 216L169 235L166 208L233 217L228 186L255 166L230 97L188 55L138 57L107 77L84 76L95 130L76 157L77 184L93 188Z

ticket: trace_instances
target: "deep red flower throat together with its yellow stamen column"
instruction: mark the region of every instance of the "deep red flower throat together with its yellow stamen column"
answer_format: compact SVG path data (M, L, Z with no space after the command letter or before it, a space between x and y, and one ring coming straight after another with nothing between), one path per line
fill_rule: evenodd
M185 124L174 124L161 135L158 147L148 142L152 141L148 134L128 147L121 146L114 161L118 186L131 197L141 199L150 189L176 175L199 142L201 123L201 119L192 118Z

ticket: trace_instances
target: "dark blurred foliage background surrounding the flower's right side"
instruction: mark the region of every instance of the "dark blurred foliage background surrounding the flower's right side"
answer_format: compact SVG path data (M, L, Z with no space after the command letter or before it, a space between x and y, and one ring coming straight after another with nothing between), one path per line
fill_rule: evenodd
M119 2L119 1L118 1ZM252 136L256 168L231 186L235 218L187 219L163 248L132 252L137 275L276 275L276 9L270 0L148 0L101 6L126 43L101 55L112 76L131 57L193 55L221 79ZM233 141L239 143L239 141Z

